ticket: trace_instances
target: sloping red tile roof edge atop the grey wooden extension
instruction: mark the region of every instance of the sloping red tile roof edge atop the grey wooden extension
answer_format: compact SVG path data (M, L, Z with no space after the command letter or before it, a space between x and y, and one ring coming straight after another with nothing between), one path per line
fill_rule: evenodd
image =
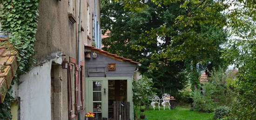
M85 47L86 49L91 50L91 51L100 53L101 55L108 56L108 57L114 58L114 59L119 60L119 61L122 61L122 62L128 61L128 62L131 62L131 63L139 64L138 62L135 62L135 61L133 61L133 60L131 60L131 59L124 58L124 57L118 56L118 55L116 55L116 54L111 54L111 53L109 53L109 52L107 52L107 51L103 51L103 50L101 50L101 49L94 48L93 46L84 45L84 47Z

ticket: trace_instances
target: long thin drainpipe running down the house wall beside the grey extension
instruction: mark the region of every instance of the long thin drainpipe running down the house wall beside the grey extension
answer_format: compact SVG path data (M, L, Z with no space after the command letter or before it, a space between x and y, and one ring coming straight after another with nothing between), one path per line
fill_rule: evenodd
M78 22L78 37L77 37L77 43L78 43L78 46L77 46L77 63L78 63L78 67L79 67L79 73L78 73L79 77L78 77L78 80L81 79L80 78L80 73L81 73L80 72L80 70L81 70L80 69L80 61L81 61L81 58L80 58L80 46L81 46L81 41L80 41L80 39L81 39L81 2L82 2L82 0L79 0L79 22ZM79 94L79 95L81 95L81 94ZM78 113L78 120L81 120L81 106L78 108L78 112L77 113Z

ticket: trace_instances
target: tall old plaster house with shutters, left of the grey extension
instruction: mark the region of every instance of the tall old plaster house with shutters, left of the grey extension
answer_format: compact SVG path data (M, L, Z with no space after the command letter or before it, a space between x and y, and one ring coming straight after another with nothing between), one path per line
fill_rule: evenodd
M17 98L12 105L14 119L78 120L80 115L84 120L84 44L92 45L93 41L101 44L100 0L81 0L80 50L77 38L79 1L40 0L34 46L36 64L27 74L20 76L13 87L13 95ZM81 61L78 61L79 54ZM1 54L1 57L5 55ZM12 63L4 65L8 68ZM0 76L5 76L6 71L1 71Z

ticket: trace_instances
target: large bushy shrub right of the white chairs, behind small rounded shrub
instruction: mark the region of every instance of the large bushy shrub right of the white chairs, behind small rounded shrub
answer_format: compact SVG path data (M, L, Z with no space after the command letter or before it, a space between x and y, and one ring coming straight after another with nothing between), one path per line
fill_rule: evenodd
M227 73L223 69L213 70L209 82L201 84L202 93L193 93L192 110L212 112L218 106L231 106L235 101L233 82L236 81L233 72Z

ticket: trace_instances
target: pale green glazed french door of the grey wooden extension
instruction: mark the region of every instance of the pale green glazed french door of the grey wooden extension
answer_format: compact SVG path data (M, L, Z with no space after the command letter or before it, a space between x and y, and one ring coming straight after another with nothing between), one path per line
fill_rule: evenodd
M130 102L130 120L133 120L132 95L132 78L86 78L86 112L93 112L96 120L113 119L114 101Z

